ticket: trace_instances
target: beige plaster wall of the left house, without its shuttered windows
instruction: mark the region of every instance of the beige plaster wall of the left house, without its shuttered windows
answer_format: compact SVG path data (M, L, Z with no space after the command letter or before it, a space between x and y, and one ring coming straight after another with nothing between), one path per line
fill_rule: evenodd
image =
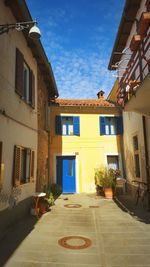
M0 1L0 24L15 23L10 9ZM35 75L35 109L27 105L15 93L16 47ZM37 64L21 32L16 30L0 37L0 141L3 142L2 161L4 163L3 191L10 192L13 168L14 145L22 145L35 150L35 177L37 154ZM21 186L20 200L31 196L35 184ZM1 208L1 207L0 207ZM3 207L4 208L4 207Z

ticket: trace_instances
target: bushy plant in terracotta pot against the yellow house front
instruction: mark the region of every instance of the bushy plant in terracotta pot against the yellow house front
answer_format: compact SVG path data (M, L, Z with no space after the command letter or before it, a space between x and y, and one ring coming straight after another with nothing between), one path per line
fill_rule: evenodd
M107 167L100 167L95 170L95 184L103 188L106 198L113 197L115 180L115 170Z

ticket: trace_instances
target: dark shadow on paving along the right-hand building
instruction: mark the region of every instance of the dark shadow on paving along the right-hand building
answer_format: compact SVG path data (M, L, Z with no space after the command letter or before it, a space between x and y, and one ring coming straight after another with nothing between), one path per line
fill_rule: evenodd
M114 198L115 203L121 208L124 212L129 213L136 220L141 221L145 224L150 224L150 212L145 211L142 205L135 205L131 195L119 195Z

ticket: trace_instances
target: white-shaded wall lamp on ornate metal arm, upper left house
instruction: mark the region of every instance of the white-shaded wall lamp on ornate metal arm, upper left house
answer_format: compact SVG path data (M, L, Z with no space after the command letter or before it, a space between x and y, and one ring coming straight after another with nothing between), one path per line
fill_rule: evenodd
M17 22L15 24L2 24L0 25L0 35L8 33L10 30L23 31L29 29L29 37L32 39L39 39L41 37L40 29L37 27L37 21Z

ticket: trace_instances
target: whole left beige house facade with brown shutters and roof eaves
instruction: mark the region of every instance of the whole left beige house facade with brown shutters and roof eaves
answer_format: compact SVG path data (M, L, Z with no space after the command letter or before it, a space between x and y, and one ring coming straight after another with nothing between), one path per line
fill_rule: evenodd
M0 24L31 20L25 1L0 2ZM39 40L29 38L28 32L14 30L1 34L0 54L0 229L3 232L28 212L40 169L37 158L39 163L43 126L38 113L45 112L48 97L55 98L58 92L44 49ZM41 91L41 94L46 91L42 104L38 103Z

